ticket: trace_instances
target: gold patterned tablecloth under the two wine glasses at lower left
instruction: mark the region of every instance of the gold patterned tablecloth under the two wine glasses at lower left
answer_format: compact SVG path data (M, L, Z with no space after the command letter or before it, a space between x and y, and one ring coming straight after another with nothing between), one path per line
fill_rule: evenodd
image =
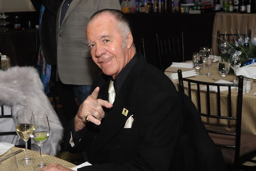
M11 148L11 150L13 150L14 152L17 150L20 150L22 148L17 148L17 147L13 147ZM23 149L25 150L25 149ZM33 150L28 150L28 157L29 158L33 158L33 164L37 164L40 162L40 154L39 152L33 151ZM19 154L16 154L16 160L22 160L24 158L24 152L21 152ZM69 169L76 167L76 165L69 163L65 160L62 160L60 158L54 157L54 156L50 156L48 154L43 154L43 162L46 163L57 163L59 165L62 165L64 167L67 167ZM17 162L18 163L18 162ZM18 168L20 171L33 171L33 166L23 166L23 165L19 165L18 163ZM11 170L11 169L10 169Z

